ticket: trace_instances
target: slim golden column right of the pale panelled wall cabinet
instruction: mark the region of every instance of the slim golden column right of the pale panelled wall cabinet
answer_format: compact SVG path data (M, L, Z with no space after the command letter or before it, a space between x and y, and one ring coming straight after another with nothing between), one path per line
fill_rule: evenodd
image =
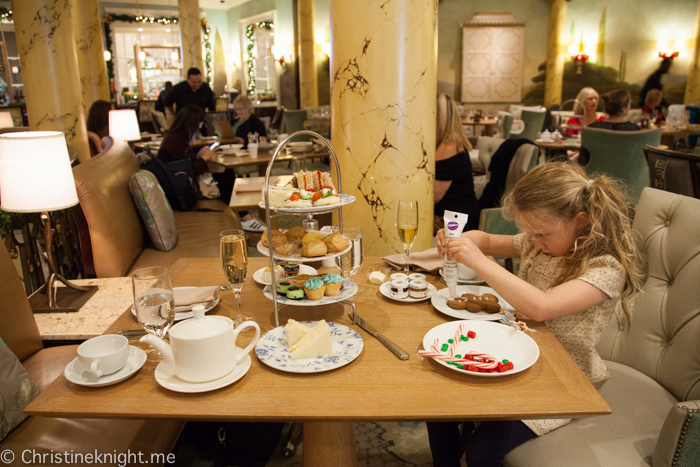
M549 38L547 40L547 71L544 83L544 105L561 104L564 85L564 26L566 24L567 0L551 0L549 11Z

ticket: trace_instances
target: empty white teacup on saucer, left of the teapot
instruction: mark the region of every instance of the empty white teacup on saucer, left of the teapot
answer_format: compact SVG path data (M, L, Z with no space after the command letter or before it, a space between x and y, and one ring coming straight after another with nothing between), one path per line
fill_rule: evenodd
M117 334L93 337L78 347L78 360L99 378L121 370L129 358L129 340Z

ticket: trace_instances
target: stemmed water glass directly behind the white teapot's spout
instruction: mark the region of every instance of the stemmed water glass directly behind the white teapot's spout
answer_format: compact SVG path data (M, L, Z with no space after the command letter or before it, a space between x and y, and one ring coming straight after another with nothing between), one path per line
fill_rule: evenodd
M168 268L150 267L131 276L136 319L146 332L161 339L175 321L175 299Z

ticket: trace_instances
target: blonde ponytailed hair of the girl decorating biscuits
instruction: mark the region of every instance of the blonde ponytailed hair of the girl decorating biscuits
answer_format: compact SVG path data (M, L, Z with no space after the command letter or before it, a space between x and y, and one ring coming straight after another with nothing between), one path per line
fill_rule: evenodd
M549 162L520 179L502 205L511 218L518 213L542 210L546 220L553 222L571 222L579 212L587 213L588 225L578 232L554 285L579 277L592 258L612 255L626 273L627 285L620 299L629 323L629 309L641 289L642 272L637 263L637 238L623 193L622 185L613 178L600 175L591 179L578 165Z

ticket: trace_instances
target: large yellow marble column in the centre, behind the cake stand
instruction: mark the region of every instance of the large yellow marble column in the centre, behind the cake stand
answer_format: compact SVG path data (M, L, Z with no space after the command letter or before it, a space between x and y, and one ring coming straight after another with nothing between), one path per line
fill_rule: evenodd
M403 251L398 202L415 199L413 251L432 245L437 0L331 0L331 134L343 220L363 224L365 255Z

